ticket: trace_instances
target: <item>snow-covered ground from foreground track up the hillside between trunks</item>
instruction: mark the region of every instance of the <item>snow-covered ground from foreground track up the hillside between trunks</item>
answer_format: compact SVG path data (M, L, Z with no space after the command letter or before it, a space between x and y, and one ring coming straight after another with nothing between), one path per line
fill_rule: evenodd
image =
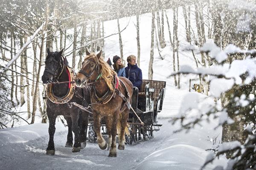
M172 21L172 12L168 11L169 20ZM130 24L122 32L125 59L130 54L137 56L136 17L120 20L121 29L128 20ZM183 28L182 17L179 19L179 30ZM170 22L172 24L172 22ZM116 33L117 22L111 20L105 22L105 35ZM172 25L171 25L172 28ZM140 68L143 71L143 79L148 77L148 63L150 57L151 14L144 14L140 18L140 44L141 59ZM165 28L167 47L162 50L165 57L161 60L157 48L154 51L154 80L166 81L166 94L163 103L163 111L158 115L158 124L163 124L160 131L154 132L154 139L141 142L136 145L126 145L125 150L117 150L116 158L109 158L107 150L99 149L95 143L87 143L80 153L72 153L71 148L64 147L67 138L67 127L60 122L56 124L54 137L55 156L47 156L48 124L38 123L23 125L20 127L0 130L0 170L70 170L70 169L95 169L95 170L198 170L207 158L210 149L215 147L212 139L218 136L221 139L221 128L212 130L218 122L203 122L201 126L188 133L182 131L174 133L179 125L172 125L170 120L179 115L183 107L183 96L188 94L189 78L181 76L181 89L174 87L173 77L167 78L172 73L172 51L169 45L168 29ZM184 31L179 33L181 46L184 42ZM106 59L119 54L118 35L105 40ZM68 50L67 50L68 52ZM68 58L71 63L71 58ZM180 65L190 65L195 68L195 62L191 52L180 50ZM195 77L192 77L195 78ZM193 82L192 82L193 83ZM194 82L195 83L195 82ZM195 92L192 92L195 93ZM199 94L198 94L199 95ZM193 101L191 101L193 102ZM22 108L21 108L22 110ZM216 165L225 166L226 159L221 157L214 164L209 164L206 169L211 170Z

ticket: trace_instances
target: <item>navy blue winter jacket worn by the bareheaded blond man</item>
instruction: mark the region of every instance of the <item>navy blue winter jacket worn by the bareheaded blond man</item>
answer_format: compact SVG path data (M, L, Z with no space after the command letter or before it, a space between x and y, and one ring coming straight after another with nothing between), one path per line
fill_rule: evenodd
M137 64L130 65L130 63L128 63L128 66L125 67L125 75L126 78L132 82L134 87L137 87L140 90L140 86L142 84L142 72L141 69L138 68Z

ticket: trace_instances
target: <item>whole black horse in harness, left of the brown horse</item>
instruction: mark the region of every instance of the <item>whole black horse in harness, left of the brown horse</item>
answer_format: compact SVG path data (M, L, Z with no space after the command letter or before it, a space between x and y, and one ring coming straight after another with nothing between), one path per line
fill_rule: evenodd
M50 52L47 49L45 59L45 70L42 81L47 84L47 116L49 119L49 143L47 154L54 155L55 148L53 136L55 133L55 120L59 115L63 115L67 120L68 134L65 147L72 147L72 152L79 152L86 146L88 115L89 113L80 110L70 104L76 102L79 105L88 106L90 104L90 89L76 87L72 82L74 74L68 66L67 59L62 56L61 51ZM73 133L75 143L73 145Z

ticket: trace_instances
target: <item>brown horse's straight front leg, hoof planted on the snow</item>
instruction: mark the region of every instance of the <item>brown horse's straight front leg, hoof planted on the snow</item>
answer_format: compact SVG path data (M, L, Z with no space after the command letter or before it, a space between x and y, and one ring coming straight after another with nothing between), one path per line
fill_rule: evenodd
M117 129L116 129L116 125L117 125L117 121L119 119L119 111L116 111L113 114L113 118L112 118L112 127L111 127L111 135L112 135L112 143L111 143L111 148L109 150L109 157L116 157L116 133L117 133Z

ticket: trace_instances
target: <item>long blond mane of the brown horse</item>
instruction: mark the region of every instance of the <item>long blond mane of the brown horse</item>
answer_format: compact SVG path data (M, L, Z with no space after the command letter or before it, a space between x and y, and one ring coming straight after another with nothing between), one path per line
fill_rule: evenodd
M96 54L92 53L89 56L85 57L85 59L93 58L93 60L102 67L102 78L108 85L108 88L113 92L115 89L113 87L113 79L116 76L116 72L109 66L107 62L104 61L102 57L96 56Z

